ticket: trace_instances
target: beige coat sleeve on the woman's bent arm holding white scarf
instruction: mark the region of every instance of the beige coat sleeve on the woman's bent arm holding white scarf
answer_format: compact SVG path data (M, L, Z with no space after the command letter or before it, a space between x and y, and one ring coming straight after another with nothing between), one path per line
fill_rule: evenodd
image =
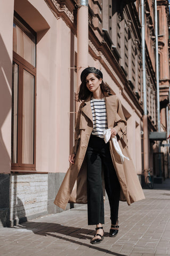
M123 114L121 101L117 98L117 113L115 119L115 126L118 136L122 138L123 135L126 135L126 119Z

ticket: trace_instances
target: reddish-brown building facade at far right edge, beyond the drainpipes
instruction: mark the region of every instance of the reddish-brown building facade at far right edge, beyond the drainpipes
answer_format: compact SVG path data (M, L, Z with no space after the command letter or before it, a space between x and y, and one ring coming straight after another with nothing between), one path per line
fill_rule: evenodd
M168 1L157 1L158 15L158 54L159 54L159 95L161 130L169 136L169 4ZM163 141L163 145L166 143ZM169 177L169 147L161 148L164 167L163 177ZM157 170L155 170L156 172Z

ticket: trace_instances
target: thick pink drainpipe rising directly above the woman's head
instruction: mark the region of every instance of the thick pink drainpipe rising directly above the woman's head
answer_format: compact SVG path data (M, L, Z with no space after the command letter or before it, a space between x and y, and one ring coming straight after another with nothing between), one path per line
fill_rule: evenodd
M80 75L84 68L88 67L89 53L89 20L88 20L88 0L78 0L78 16L77 16L77 91L81 84ZM78 111L79 105L76 106Z

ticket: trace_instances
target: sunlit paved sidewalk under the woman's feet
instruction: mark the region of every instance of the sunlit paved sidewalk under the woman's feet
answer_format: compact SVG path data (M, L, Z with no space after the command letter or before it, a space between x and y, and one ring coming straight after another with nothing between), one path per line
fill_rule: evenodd
M105 238L90 244L94 226L87 225L87 206L47 215L14 228L0 229L1 256L164 256L170 255L170 179L145 189L146 199L120 203L120 231L109 237L105 203Z

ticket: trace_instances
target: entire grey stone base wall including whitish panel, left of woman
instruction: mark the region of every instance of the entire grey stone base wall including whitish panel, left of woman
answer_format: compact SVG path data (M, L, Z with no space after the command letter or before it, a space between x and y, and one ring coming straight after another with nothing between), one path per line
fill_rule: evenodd
M54 199L64 175L65 173L0 174L0 227L13 227L47 214L62 212L54 204ZM141 181L140 175L139 179ZM80 206L67 204L66 210Z

